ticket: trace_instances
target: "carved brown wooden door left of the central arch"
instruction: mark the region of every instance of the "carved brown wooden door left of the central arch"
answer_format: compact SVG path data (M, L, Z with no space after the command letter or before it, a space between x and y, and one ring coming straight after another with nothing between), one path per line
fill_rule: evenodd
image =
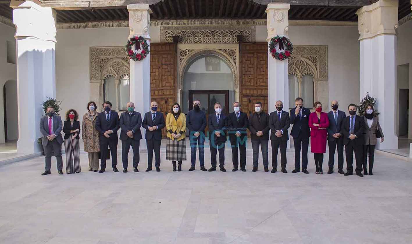
M173 43L150 43L150 97L166 115L177 101L176 46ZM162 136L166 137L166 128Z

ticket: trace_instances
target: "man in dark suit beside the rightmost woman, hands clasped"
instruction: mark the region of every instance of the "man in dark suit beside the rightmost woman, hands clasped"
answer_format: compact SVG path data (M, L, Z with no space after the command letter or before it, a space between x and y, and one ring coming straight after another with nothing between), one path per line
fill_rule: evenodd
M363 117L356 115L356 105L349 104L349 116L342 123L343 143L346 152L346 170L344 175L353 175L353 151L355 151L356 175L362 175L362 154L363 154L363 131L365 130L365 121Z

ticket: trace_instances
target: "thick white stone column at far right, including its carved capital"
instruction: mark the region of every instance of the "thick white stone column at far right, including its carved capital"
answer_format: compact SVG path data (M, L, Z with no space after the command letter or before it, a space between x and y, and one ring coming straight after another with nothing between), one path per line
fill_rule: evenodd
M360 8L361 45L360 99L369 92L377 99L379 123L384 132L382 149L398 148L396 136L396 33L398 0L380 0ZM378 139L379 140L379 139Z

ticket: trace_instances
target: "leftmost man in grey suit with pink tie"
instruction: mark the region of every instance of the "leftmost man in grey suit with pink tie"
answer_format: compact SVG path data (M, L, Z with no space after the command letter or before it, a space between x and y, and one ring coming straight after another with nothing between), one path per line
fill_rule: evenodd
M47 115L40 119L40 132L43 135L42 145L44 147L44 154L46 154L46 170L42 175L51 174L52 152L54 152L56 156L59 175L63 175L63 159L61 158L63 138L60 134L62 129L63 123L61 122L61 117L54 114L53 106L48 106Z

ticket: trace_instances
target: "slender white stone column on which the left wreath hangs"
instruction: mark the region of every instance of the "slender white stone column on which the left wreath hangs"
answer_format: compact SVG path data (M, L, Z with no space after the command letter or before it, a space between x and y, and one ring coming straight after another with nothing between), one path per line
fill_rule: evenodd
M150 45L150 10L148 4L129 4L129 28L131 37L142 36ZM150 110L150 54L140 61L130 60L130 100L136 111L143 115ZM145 130L141 128L142 135ZM143 136L144 137L144 136Z

